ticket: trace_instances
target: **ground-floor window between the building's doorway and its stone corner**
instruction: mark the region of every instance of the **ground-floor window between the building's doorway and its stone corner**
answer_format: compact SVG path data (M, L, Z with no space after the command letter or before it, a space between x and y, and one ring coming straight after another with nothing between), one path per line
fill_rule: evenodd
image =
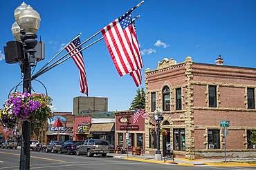
M185 129L174 129L174 150L185 151Z

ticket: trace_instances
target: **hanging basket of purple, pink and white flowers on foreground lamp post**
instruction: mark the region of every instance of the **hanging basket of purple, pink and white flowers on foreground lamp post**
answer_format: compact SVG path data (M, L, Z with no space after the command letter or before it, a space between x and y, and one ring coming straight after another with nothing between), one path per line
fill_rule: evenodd
M51 100L45 94L13 92L0 110L0 123L9 129L26 120L42 125L51 118Z

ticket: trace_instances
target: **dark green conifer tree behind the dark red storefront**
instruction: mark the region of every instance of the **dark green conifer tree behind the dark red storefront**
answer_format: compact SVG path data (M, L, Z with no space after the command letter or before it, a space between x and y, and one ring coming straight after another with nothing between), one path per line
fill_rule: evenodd
M143 88L137 89L136 97L132 100L131 107L129 109L140 109L139 107L141 109L145 109L145 91Z

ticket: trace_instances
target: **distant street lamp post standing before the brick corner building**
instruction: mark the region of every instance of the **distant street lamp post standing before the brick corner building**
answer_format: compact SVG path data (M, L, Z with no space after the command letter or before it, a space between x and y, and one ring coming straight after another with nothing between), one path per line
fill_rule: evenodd
M155 119L156 119L156 124L157 124L157 150L156 150L156 154L155 154L155 160L162 160L162 154L161 154L161 151L160 151L160 133L159 133L159 126L160 126L160 123L161 121L163 120L163 110L160 109L160 108L157 108L155 111L154 111L154 114L155 114Z

